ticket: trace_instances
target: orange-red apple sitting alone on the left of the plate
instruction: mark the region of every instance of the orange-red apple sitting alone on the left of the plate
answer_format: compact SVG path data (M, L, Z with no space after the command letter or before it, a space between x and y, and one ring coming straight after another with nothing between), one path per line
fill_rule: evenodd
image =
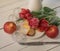
M16 24L14 22L6 22L4 24L4 31L12 34L14 31L16 31Z

